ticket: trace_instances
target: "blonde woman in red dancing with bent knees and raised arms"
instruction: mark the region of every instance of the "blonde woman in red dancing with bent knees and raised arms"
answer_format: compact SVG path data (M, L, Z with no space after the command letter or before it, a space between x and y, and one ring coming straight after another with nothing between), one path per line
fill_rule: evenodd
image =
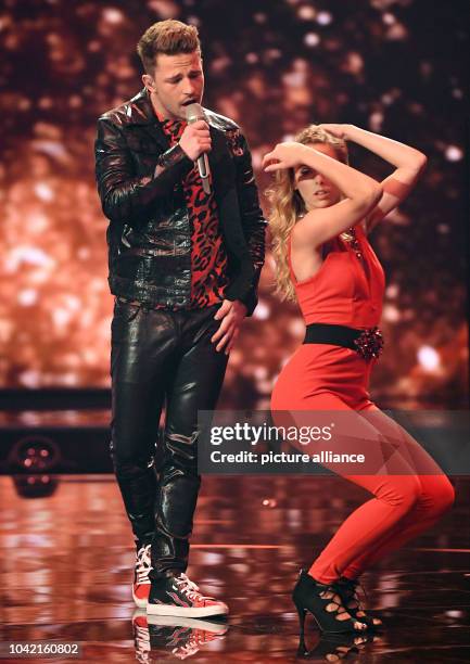
M379 184L350 167L346 141L386 159L394 173ZM306 611L323 631L381 625L359 601L360 574L433 525L454 501L443 471L368 393L382 346L377 325L384 276L367 235L409 194L425 161L412 148L352 125L312 125L264 157L264 169L276 174L268 194L278 292L297 299L307 325L277 380L271 410L357 411L367 445L379 447L399 430L409 458L425 469L417 473L399 457L393 474L341 473L373 498L346 519L308 572L301 571L293 591L301 634Z

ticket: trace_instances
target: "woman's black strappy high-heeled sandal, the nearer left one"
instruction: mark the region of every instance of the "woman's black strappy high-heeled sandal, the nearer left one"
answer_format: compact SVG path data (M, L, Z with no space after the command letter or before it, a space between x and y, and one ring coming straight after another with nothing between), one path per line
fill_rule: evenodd
M301 640L304 636L307 611L312 613L321 631L328 634L363 633L367 625L353 617L341 618L348 613L333 584L320 584L305 570L301 570L297 583L292 592L292 600L297 609Z

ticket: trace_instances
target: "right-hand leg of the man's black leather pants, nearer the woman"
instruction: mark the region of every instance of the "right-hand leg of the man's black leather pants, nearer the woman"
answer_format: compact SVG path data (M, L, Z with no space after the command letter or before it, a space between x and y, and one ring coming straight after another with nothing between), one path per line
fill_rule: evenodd
M198 410L213 410L223 385L228 356L211 337L220 321L218 305L177 314L180 329L178 366L167 385L166 425L155 503L152 571L156 579L188 566L189 537L201 477L198 474Z

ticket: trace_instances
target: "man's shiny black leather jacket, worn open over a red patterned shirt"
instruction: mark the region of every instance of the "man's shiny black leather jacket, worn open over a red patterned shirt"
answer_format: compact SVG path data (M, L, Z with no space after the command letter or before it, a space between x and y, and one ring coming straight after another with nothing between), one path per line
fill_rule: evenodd
M204 108L220 230L228 256L227 299L250 316L265 255L266 221L251 154L238 125ZM111 292L152 306L186 308L191 294L191 225L182 180L193 163L169 149L145 88L98 119L96 175L110 219Z

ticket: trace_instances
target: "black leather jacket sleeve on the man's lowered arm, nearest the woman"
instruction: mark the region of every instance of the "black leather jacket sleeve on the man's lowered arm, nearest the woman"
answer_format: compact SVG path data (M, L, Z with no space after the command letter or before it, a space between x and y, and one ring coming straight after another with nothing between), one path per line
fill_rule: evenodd
M243 233L255 270L253 288L247 297L243 301L247 307L247 316L251 316L257 304L257 285L265 263L266 219L259 206L250 148L246 139L241 132L237 137L237 143L238 149L236 150L236 155L238 156L234 157L234 163L237 168L237 193L240 204L240 216Z

